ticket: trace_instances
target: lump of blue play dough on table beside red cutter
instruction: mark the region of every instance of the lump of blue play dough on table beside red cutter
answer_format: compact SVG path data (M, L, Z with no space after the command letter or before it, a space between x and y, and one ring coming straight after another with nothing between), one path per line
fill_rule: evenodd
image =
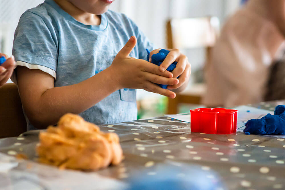
M274 115L268 113L260 119L248 120L243 132L285 135L285 105L276 106Z

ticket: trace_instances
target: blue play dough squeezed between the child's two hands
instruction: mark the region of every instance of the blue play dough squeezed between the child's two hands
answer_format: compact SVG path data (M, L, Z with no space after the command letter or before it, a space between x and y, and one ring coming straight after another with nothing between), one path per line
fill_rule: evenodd
M147 52L147 57L146 59L149 61L149 54L150 54L150 51L148 49L146 49L146 52ZM151 56L151 62L153 64L156 64L157 66L160 66L162 64L162 62L164 61L164 59L166 58L167 54L169 53L170 51L168 50L165 50L165 49L161 49L159 50L159 52L157 54L152 54ZM166 70L169 71L169 72L172 72L175 68L176 68L176 65L177 65L177 62L173 62ZM177 77L178 78L178 77ZM157 84L158 86L166 89L167 85L166 84Z

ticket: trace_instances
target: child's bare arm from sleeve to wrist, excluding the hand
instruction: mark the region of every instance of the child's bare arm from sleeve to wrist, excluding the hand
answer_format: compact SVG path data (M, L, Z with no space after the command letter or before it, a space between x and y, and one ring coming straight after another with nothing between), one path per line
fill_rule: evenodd
M27 68L22 69L33 72ZM80 83L48 89L38 86L42 85L45 79L30 87L29 81L36 78L37 74L34 77L31 77L31 74L24 77L27 73L21 70L17 69L21 99L30 122L36 128L46 128L48 125L56 124L65 113L79 114L119 90L116 76L108 68ZM27 91L30 90L35 92L34 97L28 95Z

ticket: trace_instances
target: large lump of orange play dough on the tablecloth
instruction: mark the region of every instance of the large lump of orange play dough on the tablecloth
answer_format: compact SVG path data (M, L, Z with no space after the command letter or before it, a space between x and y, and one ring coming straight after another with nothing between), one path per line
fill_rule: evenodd
M101 132L78 115L65 114L57 127L40 132L38 161L61 169L96 170L119 164L123 151L115 133Z

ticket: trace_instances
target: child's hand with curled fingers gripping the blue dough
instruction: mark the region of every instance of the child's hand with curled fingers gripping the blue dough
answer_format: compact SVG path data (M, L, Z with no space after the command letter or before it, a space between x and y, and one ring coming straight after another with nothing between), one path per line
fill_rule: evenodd
M152 54L156 54L161 49L152 50L150 52L149 62L151 62ZM167 89L177 89L183 85L183 89L186 87L190 74L191 74L191 64L188 62L188 58L182 54L178 49L167 49L169 50L169 54L166 56L162 64L159 66L159 70L164 72L168 66L170 66L174 61L177 62L176 68L172 71L173 78L177 78L179 76L179 83L176 85L168 85ZM183 90L181 89L181 90ZM179 90L180 91L180 90Z

